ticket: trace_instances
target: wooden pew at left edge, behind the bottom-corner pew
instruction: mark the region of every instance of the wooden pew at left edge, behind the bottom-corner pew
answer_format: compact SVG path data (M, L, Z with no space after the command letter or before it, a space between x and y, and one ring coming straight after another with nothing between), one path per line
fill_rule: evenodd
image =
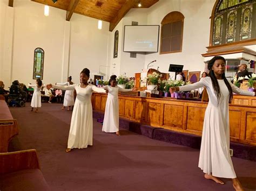
M18 124L11 115L8 105L0 100L0 153L8 152L8 145L12 137L18 135Z

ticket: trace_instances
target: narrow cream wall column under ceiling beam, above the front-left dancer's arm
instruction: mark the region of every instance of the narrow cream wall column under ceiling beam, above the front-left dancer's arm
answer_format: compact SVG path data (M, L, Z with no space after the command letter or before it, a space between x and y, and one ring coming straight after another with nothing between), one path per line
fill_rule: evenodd
M66 82L69 76L69 59L70 59L70 22L65 21L63 56L62 56L62 82Z

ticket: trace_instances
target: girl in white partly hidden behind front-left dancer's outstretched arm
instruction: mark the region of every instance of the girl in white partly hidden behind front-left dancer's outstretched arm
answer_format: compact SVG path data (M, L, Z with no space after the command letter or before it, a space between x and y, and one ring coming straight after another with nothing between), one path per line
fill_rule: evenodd
M70 86L73 84L71 81L72 77L69 76L67 79L67 82L65 83L56 83L56 85L59 86ZM65 107L69 107L68 110L71 110L71 106L75 104L75 96L74 96L74 90L66 90L64 95L64 101L63 101L63 107L62 109L65 109Z

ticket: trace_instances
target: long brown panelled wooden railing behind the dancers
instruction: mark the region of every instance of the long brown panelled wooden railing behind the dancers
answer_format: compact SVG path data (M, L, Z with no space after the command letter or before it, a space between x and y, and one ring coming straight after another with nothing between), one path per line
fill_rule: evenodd
M255 97L244 97L256 103ZM106 98L93 93L93 109L104 112ZM120 117L194 135L201 135L206 107L207 102L119 95ZM230 104L230 137L233 142L256 145L256 105Z

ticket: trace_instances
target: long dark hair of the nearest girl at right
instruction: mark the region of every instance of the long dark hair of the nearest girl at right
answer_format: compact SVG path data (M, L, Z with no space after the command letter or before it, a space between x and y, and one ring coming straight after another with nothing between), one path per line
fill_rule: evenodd
M217 97L217 100L219 102L220 100L220 87L219 87L219 83L218 83L218 80L212 70L212 66L214 65L214 62L216 60L223 60L225 63L226 63L226 60L225 58L223 58L222 56L214 56L209 62L208 62L208 70L210 70L209 72L209 76L211 77L211 80L212 80L212 86L213 86L213 89L214 89L214 93ZM233 98L233 91L232 91L232 88L231 88L231 85L230 83L227 81L226 79L226 76L225 76L225 73L222 74L221 76L227 86L227 89L228 91L230 92L230 102L232 101L232 98Z

